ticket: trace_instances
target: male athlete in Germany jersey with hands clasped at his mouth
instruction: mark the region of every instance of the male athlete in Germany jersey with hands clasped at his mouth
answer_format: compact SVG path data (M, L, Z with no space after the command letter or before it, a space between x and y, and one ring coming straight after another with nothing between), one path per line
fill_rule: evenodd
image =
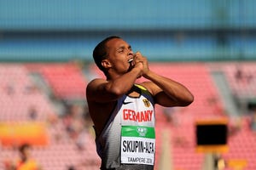
M148 59L120 37L107 37L93 51L106 79L86 88L101 169L154 169L154 104L187 106L193 94L179 82L151 71ZM138 78L147 82L137 84Z

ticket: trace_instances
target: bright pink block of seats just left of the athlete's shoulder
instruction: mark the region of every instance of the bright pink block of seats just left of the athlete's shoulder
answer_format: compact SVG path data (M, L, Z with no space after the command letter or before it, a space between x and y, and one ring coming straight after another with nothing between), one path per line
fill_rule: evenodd
M78 65L55 63L27 65L30 71L39 72L49 84L53 94L61 99L84 99L86 80Z

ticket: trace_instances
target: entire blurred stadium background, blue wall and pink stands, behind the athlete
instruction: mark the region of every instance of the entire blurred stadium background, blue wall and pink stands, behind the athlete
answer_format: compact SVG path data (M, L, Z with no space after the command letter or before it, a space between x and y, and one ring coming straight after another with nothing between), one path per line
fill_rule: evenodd
M85 87L102 77L93 49L116 35L195 95L189 107L156 105L155 169L255 170L255 8L253 0L0 0L0 169L19 169L22 144L32 159L23 169L99 169ZM201 147L197 125L214 123L227 127L225 142Z

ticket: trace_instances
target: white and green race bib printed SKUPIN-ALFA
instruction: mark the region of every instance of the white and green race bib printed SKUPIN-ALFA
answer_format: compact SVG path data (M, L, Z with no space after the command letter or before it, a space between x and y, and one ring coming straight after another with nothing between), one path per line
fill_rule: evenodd
M154 165L154 127L122 126L121 163Z

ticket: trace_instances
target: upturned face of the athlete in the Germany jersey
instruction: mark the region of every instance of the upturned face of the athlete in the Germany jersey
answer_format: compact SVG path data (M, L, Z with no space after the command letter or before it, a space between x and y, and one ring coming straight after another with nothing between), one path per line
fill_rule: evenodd
M130 44L122 39L114 38L107 43L107 53L113 71L123 74L129 70L131 64L128 61L133 58Z

